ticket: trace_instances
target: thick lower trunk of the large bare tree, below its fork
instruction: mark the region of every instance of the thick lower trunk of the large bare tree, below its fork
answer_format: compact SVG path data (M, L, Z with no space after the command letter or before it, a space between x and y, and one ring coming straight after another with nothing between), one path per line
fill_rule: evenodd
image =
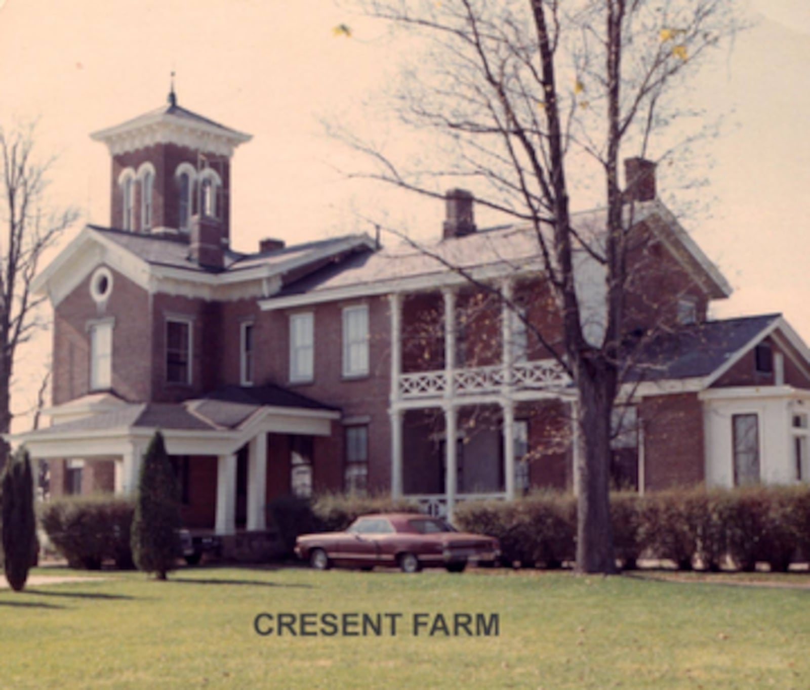
M616 573L610 520L610 422L615 376L608 364L577 368L581 452L577 472L578 573Z

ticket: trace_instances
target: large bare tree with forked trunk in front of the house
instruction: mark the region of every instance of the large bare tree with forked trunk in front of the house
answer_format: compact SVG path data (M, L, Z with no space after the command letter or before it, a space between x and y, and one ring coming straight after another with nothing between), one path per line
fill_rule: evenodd
M418 164L403 166L360 136L341 136L373 161L373 168L360 173L364 177L433 198L442 197L447 180L465 181L474 185L480 206L533 228L561 314L562 347L552 346L558 334L530 322L527 328L556 352L578 389L577 568L611 573L611 414L632 354L628 259L644 239L631 231L634 209L620 189L619 162L649 158L652 150L659 160L671 155L659 133L671 132L673 124L681 140L693 135L683 127L694 114L681 105L688 100L684 77L735 31L733 3L359 2L367 15L427 40L429 54L420 54L410 79L403 80L395 107L405 124L430 131L446 146L437 147L442 160L424 151ZM638 182L627 180L631 186ZM588 185L595 185L604 208L603 227L592 236L578 232L570 210L572 194ZM599 262L606 276L599 342L586 337L582 326L578 249Z

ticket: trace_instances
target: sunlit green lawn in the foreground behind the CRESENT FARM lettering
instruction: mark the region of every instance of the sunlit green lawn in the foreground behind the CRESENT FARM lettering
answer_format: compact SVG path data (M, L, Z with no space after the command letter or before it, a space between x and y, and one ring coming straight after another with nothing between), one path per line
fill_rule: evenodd
M810 687L810 590L795 587L505 570L108 577L0 590L0 688ZM262 637L262 612L402 617L395 636ZM428 626L496 613L499 634L417 636L417 612Z

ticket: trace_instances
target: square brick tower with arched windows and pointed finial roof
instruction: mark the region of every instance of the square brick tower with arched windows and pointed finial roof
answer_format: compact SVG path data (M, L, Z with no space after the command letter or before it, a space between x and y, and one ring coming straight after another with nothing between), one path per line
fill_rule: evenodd
M112 155L112 228L190 235L196 217L229 245L231 157L249 134L182 108L172 89L163 107L91 137Z

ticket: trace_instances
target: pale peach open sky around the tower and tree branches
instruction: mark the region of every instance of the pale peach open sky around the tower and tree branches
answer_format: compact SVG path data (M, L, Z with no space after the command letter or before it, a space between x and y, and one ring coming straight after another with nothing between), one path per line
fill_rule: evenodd
M756 26L687 95L725 117L699 171L709 212L684 225L735 288L714 315L783 312L810 342L810 6L750 5ZM333 36L339 23L352 38ZM88 134L164 103L175 70L181 105L254 135L232 162L235 249L372 232L359 216L438 236L441 204L416 211L343 180L346 151L323 134L323 118L342 119L396 140L374 95L397 68L382 28L332 0L0 0L0 124L39 118L42 152L59 155L53 200L109 224L109 155ZM22 356L18 411L44 359L42 347Z

